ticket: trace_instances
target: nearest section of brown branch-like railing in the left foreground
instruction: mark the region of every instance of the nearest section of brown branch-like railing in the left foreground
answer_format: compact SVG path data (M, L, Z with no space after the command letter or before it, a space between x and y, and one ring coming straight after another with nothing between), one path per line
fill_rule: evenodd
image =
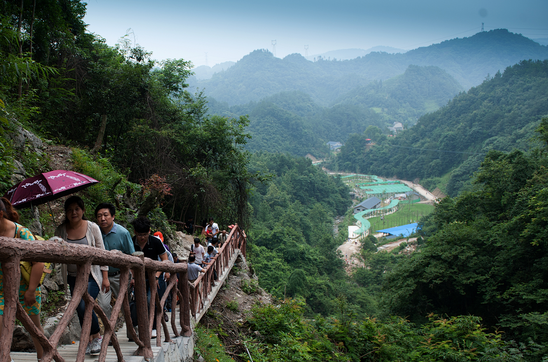
M71 301L66 307L66 311L55 328L53 334L47 338L32 320L25 313L19 303L19 284L20 284L20 261L36 261L36 262L53 262L77 265L77 277L75 290L72 291ZM168 261L154 261L149 258L144 258L142 252L135 252L133 255L125 255L121 251L106 251L99 250L87 245L68 244L60 238L56 240L23 240L0 237L0 262L2 263L3 271L3 287L4 287L4 316L3 330L0 335L0 362L9 362L10 347L12 345L13 330L15 319L19 319L31 336L36 337L39 343L44 348L42 362L50 362L55 359L56 362L64 362L56 347L59 343L62 333L70 323L76 307L83 299L85 302L84 323L82 325L81 341L87 341L92 323L92 311L95 311L98 318L102 320L105 327L105 332L99 354L99 362L104 362L106 359L107 347L109 342L116 350L117 359L122 362L122 351L119 346L115 331L116 320L118 319L121 308L125 311L125 323L128 330L131 331L138 349L135 354L145 358L153 358L151 348L151 332L153 318L158 318L162 322L163 331L165 334L165 342L169 342L170 334L167 324L162 318L163 306L167 300L168 293L172 294L173 300L176 297L180 299L180 331L175 325L175 308L172 309L172 332L175 337L180 335L189 337L192 335L190 325L190 298L189 298L189 283L187 280L187 264L186 263L171 263ZM135 279L134 295L137 311L139 336L136 336L132 327L130 318L130 308L127 294L127 283L120 284L119 296L112 309L111 319L106 317L99 305L88 294L88 278L92 265L108 265L117 267L121 271L120 280L129 280L130 269ZM154 275L157 271L169 272L172 275L180 273L179 283L176 283L176 278L170 278L167 289L159 300L157 288L151 288L150 313L147 307L147 292L145 283L145 273L149 273L149 279L155 280ZM156 312L156 304L159 305ZM156 315L155 315L156 312ZM158 338L156 345L161 346L161 332L158 328ZM85 358L85 347L87 343L80 343L76 361L82 362Z

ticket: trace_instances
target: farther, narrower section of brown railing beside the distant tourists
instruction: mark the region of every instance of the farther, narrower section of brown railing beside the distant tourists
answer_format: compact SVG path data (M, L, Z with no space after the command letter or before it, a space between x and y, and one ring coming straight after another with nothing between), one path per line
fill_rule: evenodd
M216 260L206 267L205 273L200 273L198 278L190 284L190 310L193 318L196 318L204 307L209 306L206 300L209 292L212 291L213 269L219 279L225 273L230 272L230 261L233 256L241 252L246 257L246 239L246 233L236 224L226 238L226 242L219 249L219 256Z

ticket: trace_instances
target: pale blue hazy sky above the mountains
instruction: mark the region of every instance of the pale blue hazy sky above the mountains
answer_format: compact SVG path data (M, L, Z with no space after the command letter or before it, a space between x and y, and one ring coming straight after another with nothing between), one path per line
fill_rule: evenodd
M481 30L548 38L548 0L89 0L88 30L109 45L133 30L153 59L195 66L238 61L255 49L276 56L386 45L414 49ZM133 39L133 36L132 36Z

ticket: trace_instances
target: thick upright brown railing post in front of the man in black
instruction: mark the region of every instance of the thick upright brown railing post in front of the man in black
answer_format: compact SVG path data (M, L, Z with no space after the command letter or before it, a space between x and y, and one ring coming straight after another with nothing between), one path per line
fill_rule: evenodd
M143 254L142 251L136 251L132 255L138 256L142 261L145 260L145 254ZM150 345L149 309L146 303L146 280L144 263L142 268L135 268L133 271L133 279L135 279L134 293L135 304L137 307L137 322L139 323L139 339L144 344L144 347L139 346L135 354L145 358L154 358L154 354L152 353L152 347Z

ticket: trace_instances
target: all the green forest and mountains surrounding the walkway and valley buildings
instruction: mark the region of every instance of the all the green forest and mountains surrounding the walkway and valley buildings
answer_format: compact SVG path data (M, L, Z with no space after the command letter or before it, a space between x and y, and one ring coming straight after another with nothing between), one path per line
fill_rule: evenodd
M236 102L192 94L189 61L88 33L82 2L0 10L0 192L58 157L18 143L26 129L46 148L70 147L74 168L101 181L83 193L87 205L112 202L124 225L147 215L169 234L170 219L237 222L274 302L234 321L249 354L224 346L227 360L548 360L548 61L523 61L546 58L546 47L497 30L345 62L258 50L207 83ZM504 52L489 66L511 66L484 79L475 59ZM256 79L230 78L249 74L247 62L256 77L286 64L301 76L253 93ZM408 129L389 137L395 120ZM447 191L419 221L417 252L377 252L369 235L361 267L346 272L336 248L354 222L351 190L303 157L328 154L328 140L345 141L329 168ZM47 211L40 221L51 235Z

